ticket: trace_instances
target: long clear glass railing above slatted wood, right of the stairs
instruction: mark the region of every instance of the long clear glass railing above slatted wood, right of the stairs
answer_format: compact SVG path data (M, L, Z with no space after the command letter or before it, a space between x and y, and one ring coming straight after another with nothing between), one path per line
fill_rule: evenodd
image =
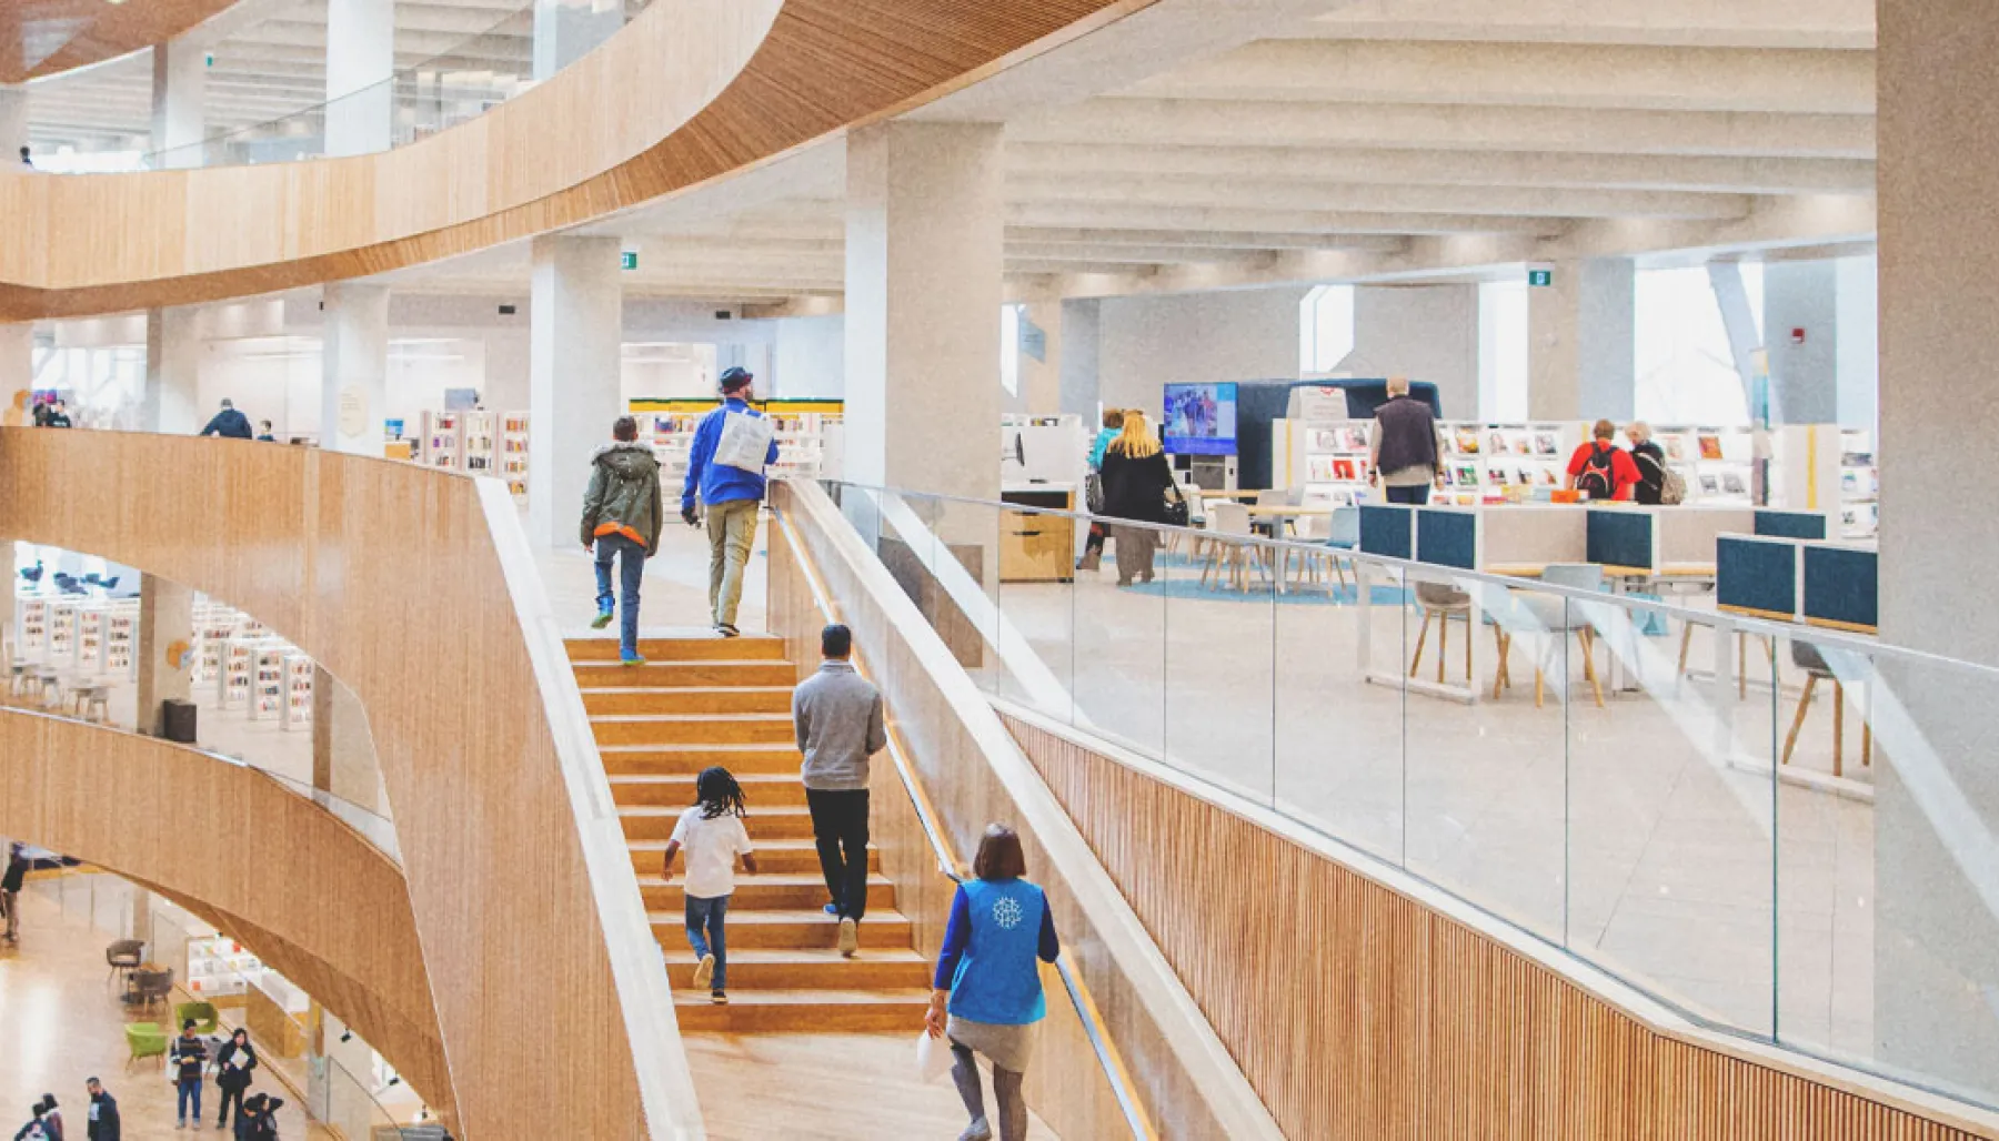
M1077 571L1087 516L822 486L990 695L1697 1025L1999 1107L1999 671L1589 568L1129 526Z

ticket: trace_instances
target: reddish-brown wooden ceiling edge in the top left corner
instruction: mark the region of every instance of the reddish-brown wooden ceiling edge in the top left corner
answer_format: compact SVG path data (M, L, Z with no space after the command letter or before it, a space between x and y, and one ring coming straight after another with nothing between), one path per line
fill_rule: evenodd
M82 6L76 0L8 0L0 10L0 84L58 76L164 44L238 0L120 0ZM68 36L46 46L52 28ZM30 46L30 28L40 28ZM18 52L14 50L18 48ZM34 58L30 58L34 56Z

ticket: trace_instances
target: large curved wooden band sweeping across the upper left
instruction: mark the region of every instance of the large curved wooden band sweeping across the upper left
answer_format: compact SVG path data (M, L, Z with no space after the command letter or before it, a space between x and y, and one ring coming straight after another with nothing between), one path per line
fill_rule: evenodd
M558 170L588 166L560 142L592 134L572 130L570 112L590 102L588 92L620 90L618 68L662 70L646 46L678 46L668 58L688 54L666 36L680 26L664 12L694 2L716 0L656 4L542 88L408 148L282 168L60 178L0 170L0 204L14 194L14 216L44 222L20 228L26 244L0 234L0 320L268 294L580 226L944 98L1155 0L764 0L776 4L768 26L734 26L738 40L756 32L744 64L672 130L636 154L602 158L596 174L568 186L510 194L522 176L514 170L520 162L508 160L538 154L538 144L566 148L552 164ZM720 16L710 20L730 28ZM442 188L436 198L452 204L506 204L440 220L436 206L378 194L382 186L426 184L426 176ZM140 180L176 182L146 196ZM532 182L532 190L546 182ZM364 198L372 206L356 204ZM242 232L244 218L254 234Z

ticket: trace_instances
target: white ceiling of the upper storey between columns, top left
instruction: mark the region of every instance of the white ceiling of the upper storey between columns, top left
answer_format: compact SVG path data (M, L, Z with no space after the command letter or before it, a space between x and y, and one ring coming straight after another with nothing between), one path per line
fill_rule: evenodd
M234 134L326 102L328 0L242 0L186 42L214 52L206 132ZM644 0L628 0L628 10ZM526 80L532 0L396 0L396 68ZM152 52L28 84L36 150L148 150Z

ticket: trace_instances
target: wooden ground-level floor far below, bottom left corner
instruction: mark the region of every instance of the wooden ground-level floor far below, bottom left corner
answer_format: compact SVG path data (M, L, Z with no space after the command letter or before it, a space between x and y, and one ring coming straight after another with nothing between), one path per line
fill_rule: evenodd
M212 1081L202 1091L202 1131L176 1133L174 1087L160 1063L140 1061L126 1073L126 1013L104 971L110 941L82 917L66 917L34 891L22 893L20 943L0 943L0 1137L12 1137L28 1121L28 1107L54 1093L68 1137L80 1141L90 1117L84 1079L92 1075L118 1099L124 1141L230 1135L214 1127L220 1091ZM252 1091L286 1101L278 1111L280 1137L334 1137L306 1123L292 1091L266 1081Z

